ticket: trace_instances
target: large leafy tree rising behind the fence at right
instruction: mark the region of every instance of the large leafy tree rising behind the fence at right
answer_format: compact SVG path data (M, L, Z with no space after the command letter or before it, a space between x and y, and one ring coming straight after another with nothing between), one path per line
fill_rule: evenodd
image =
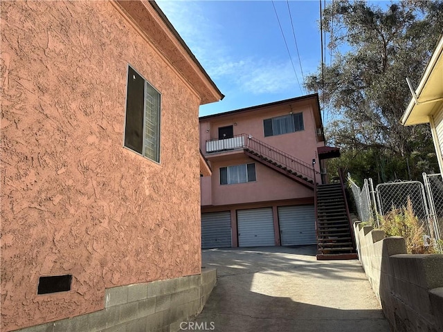
M418 84L442 33L443 1L401 1L383 10L341 0L323 16L334 62L309 75L306 86L336 114L326 131L329 144L344 154L370 152L380 181L437 170L428 125L404 127L399 120L411 98L406 77Z

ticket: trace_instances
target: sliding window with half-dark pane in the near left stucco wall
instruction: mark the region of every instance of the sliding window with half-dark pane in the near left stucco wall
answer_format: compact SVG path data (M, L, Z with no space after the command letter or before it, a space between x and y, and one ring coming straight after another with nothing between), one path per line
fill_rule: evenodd
M160 162L160 93L128 68L125 147Z

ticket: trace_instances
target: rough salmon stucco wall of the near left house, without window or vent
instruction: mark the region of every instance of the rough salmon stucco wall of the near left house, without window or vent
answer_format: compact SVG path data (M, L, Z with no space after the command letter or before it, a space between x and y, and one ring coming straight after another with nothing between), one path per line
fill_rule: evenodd
M0 6L1 331L199 273L197 95L107 1ZM162 95L160 165L123 148L128 63Z

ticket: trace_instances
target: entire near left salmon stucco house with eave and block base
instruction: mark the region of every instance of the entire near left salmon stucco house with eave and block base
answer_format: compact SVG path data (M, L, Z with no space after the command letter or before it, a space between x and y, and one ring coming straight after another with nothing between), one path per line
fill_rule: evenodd
M215 282L198 113L223 95L153 1L0 6L0 330L177 331Z

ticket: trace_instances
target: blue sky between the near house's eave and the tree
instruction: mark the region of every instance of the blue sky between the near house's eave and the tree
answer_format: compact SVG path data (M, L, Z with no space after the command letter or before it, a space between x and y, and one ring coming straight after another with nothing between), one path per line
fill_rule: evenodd
M200 116L306 94L302 73L306 77L320 64L319 1L158 0L157 3L226 95L221 102L201 106ZM327 50L327 63L329 59Z

